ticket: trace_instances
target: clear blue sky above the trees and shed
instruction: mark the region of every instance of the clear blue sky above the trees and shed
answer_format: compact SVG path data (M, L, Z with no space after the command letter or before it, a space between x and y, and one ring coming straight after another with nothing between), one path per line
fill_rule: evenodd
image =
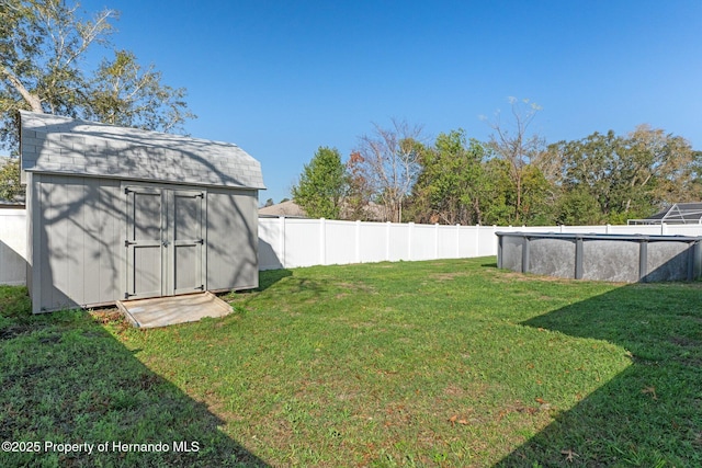
M188 89L186 132L261 161L261 203L374 123L487 140L508 96L548 142L647 123L702 150L700 0L82 2L105 4L114 44Z

